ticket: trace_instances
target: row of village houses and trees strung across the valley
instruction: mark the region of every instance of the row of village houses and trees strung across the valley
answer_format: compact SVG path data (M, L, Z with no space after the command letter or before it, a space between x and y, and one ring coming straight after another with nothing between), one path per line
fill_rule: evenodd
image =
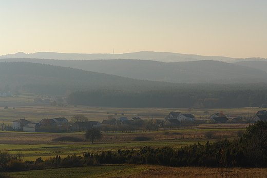
M161 128L164 129L176 129L181 126L189 126L199 124L233 124L233 123L254 123L257 121L267 121L267 111L259 110L256 115L251 119L243 117L242 115L229 115L226 116L222 111L214 113L209 116L208 120L196 119L193 114L182 114L181 112L171 111L162 120L142 120L140 117L115 117L109 115L108 120L88 121L84 115L76 115L78 120L68 121L65 117L46 118L40 122L31 122L25 118L20 118L12 122L12 131L24 131L24 132L66 132L66 131L86 131L90 128L99 128L102 131L119 131L119 132L132 132L137 130L155 130L158 131ZM79 117L85 118L85 120L79 120ZM2 125L3 130L3 125ZM10 130L9 130L10 131Z

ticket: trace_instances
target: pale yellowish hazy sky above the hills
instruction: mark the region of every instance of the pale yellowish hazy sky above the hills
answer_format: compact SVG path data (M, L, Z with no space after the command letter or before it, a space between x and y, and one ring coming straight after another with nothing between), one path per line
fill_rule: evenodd
M174 52L267 58L265 0L2 0L0 55Z

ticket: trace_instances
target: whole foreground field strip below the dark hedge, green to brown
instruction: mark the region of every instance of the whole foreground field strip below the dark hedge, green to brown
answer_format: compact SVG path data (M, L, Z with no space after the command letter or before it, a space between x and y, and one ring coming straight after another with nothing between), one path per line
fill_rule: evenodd
M109 177L109 178L264 178L267 169L263 168L204 168L204 167L163 167L152 165L105 165L98 167L61 168L49 170L31 170L12 172L10 176L23 178L52 178L52 177Z

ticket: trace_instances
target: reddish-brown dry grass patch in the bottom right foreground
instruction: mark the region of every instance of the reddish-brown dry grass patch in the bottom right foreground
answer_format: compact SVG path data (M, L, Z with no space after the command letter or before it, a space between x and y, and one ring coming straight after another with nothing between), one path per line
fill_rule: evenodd
M112 178L219 178L219 177L238 177L238 178L258 178L267 177L267 169L261 168L232 168L232 169L218 169L218 168L204 168L204 167L163 167L157 166L148 168L140 173L117 176ZM110 177L111 178L111 177Z

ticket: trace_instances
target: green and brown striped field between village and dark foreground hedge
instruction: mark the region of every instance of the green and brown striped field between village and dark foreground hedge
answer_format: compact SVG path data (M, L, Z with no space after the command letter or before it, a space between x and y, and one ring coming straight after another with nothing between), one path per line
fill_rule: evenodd
M100 153L101 151L118 149L139 149L144 146L152 148L170 146L173 148L194 143L205 144L218 139L227 138L230 140L238 138L240 131L244 130L246 124L202 124L198 128L180 130L161 130L154 132L133 132L133 133L103 133L103 139L95 144L84 138L84 132L74 133L31 133L31 132L7 132L1 131L0 147L11 154L22 152L24 160L35 161L37 157L44 159L55 155L82 155L86 152ZM217 128L216 128L217 127ZM212 138L208 139L205 134L212 132ZM83 142L59 142L53 139L61 136L78 137ZM135 142L136 136L151 137L150 141Z

